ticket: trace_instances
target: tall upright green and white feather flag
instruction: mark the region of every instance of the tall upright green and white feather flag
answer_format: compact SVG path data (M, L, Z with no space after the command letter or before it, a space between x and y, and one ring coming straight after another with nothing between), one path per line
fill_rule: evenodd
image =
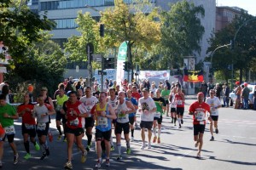
M119 54L117 59L117 68L116 68L116 82L121 84L122 80L125 78L124 62L127 58L127 43L122 42L119 47Z

